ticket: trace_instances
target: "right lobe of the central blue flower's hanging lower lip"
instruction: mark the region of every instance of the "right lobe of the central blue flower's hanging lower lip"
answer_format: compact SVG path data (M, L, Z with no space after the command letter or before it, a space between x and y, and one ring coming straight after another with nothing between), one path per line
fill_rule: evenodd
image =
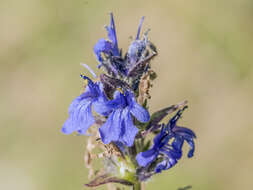
M121 139L126 146L131 147L134 143L138 129L134 126L128 109L124 109L122 113L123 123L121 127Z

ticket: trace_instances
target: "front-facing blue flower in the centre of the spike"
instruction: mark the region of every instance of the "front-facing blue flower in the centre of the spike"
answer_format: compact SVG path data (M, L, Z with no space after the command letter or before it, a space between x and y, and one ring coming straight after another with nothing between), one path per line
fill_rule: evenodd
M126 146L132 146L138 133L132 116L145 123L150 119L148 111L135 101L134 94L129 91L125 94L116 91L114 99L107 103L107 107L111 113L104 125L99 128L103 143L118 141Z

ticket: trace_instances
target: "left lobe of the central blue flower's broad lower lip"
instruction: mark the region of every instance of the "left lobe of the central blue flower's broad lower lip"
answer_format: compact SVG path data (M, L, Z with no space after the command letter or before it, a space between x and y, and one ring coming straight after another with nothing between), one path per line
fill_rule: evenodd
M99 128L100 136L104 144L119 140L122 123L121 112L122 110L113 111L104 125Z

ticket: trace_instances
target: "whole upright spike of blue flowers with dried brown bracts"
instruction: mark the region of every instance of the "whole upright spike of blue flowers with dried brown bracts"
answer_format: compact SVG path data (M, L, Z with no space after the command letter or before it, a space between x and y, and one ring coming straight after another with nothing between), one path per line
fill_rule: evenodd
M96 176L87 186L113 182L140 187L138 184L141 181L178 162L182 157L184 141L190 145L188 157L192 157L193 139L196 136L192 130L177 125L187 108L186 101L150 116L149 89L156 78L150 61L157 51L148 39L148 30L141 37L144 17L141 18L135 39L123 55L118 47L113 15L110 16L110 25L106 26L108 39L100 39L93 48L99 62L98 68L104 72L97 77L84 64L95 79L81 75L87 85L84 92L71 103L69 118L62 132L87 135L88 130L95 131L89 136L96 140L88 143L87 165L91 168L92 157L103 157L109 164L105 165L107 169L103 174ZM167 124L162 123L163 118L175 111L177 113ZM150 147L151 141L146 136L154 135ZM91 153L93 146L90 142L99 143L97 147L103 150L102 154L95 156Z

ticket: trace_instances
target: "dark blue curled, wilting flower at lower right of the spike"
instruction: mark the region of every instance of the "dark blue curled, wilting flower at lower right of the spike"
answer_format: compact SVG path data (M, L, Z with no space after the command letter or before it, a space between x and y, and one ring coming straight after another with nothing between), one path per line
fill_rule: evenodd
M190 145L188 157L190 158L193 156L193 139L196 138L194 132L185 127L176 125L184 109L179 110L166 126L162 126L160 133L154 138L154 145L151 149L140 152L136 156L136 160L140 166L146 167L150 165L152 162L155 162L159 156L162 158L162 161L156 165L155 172L160 173L162 170L171 168L182 157L184 141L187 141Z

